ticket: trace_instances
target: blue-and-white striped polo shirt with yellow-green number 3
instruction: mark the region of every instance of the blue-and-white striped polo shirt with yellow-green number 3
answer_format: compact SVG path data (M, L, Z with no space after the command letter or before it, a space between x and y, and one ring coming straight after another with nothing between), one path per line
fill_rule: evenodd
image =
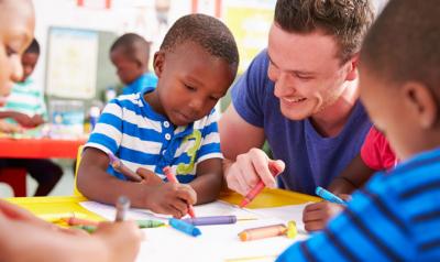
M195 178L198 163L223 157L215 110L191 124L174 127L153 111L143 98L146 91L111 100L85 146L111 152L131 170L144 167L163 179L163 167L170 166L180 183ZM111 166L108 172L125 179Z

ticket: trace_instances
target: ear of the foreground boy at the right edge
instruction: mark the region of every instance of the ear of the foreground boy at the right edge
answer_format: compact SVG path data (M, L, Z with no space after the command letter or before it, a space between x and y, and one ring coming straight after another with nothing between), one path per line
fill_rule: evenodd
M438 119L437 99L432 91L421 83L409 81L402 87L405 103L422 129L432 128Z

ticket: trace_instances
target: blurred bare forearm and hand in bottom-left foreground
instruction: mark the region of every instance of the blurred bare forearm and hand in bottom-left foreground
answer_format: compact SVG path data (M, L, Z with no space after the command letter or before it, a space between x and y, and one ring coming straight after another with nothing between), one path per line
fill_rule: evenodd
M0 261L9 262L134 261L142 238L133 222L101 226L88 236L12 220L1 214L0 230Z

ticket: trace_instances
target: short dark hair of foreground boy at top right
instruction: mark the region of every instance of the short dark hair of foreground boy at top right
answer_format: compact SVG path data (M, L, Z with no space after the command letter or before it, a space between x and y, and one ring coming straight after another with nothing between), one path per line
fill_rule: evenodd
M440 2L391 0L362 46L361 66L391 84L417 81L440 99Z

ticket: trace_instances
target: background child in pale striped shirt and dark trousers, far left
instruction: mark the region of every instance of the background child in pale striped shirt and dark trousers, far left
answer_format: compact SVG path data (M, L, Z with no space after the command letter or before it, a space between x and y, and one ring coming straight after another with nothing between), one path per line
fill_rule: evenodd
M40 45L33 40L21 57L23 77L12 87L11 95L7 98L3 108L0 108L0 118L7 118L11 124L23 128L35 128L44 123L43 116L46 106L42 90L34 85L30 75L35 68L40 57ZM25 168L37 182L34 196L46 196L58 183L63 170L51 160L40 159L0 159L0 168Z

